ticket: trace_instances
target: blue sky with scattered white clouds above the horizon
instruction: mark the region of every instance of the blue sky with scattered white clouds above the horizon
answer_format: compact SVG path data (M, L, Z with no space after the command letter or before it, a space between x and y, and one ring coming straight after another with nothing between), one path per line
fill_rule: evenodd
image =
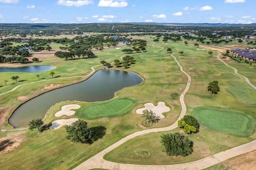
M256 0L0 0L0 23L256 23Z

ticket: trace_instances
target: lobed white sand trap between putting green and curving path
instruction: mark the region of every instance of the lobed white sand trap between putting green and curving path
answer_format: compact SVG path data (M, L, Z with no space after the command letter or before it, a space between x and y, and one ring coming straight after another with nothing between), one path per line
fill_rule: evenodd
M171 109L170 109L169 107L167 107L167 106L165 105L165 103L162 102L162 101L158 102L157 106L154 106L153 103L146 103L146 104L144 104L144 106L145 106L144 108L137 109L137 110L136 110L136 113L138 113L138 114L143 114L142 111L144 111L145 109L147 109L148 111L151 110L152 112L156 113L156 117L157 117L158 119L164 118L164 115L162 115L162 113L168 112L168 111L171 110Z

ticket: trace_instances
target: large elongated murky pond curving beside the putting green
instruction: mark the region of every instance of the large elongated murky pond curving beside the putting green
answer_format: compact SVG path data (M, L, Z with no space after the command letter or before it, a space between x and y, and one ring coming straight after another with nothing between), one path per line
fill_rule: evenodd
M29 121L44 118L47 110L61 101L106 101L112 99L116 91L141 82L141 77L134 73L99 70L86 81L49 91L27 101L14 111L9 123L16 128L27 127Z

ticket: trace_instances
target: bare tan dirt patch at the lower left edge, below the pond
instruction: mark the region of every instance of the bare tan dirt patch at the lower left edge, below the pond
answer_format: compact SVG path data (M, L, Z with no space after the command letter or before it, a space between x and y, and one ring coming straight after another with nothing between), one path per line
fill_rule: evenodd
M0 154L14 150L25 139L25 131L11 133L4 138L0 138Z

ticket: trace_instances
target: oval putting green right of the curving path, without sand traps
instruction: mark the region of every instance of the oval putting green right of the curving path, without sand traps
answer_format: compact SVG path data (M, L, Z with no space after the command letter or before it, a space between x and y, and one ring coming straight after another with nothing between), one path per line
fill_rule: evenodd
M198 119L200 125L211 129L222 130L240 136L248 136L254 132L254 118L242 112L197 107L192 114Z

